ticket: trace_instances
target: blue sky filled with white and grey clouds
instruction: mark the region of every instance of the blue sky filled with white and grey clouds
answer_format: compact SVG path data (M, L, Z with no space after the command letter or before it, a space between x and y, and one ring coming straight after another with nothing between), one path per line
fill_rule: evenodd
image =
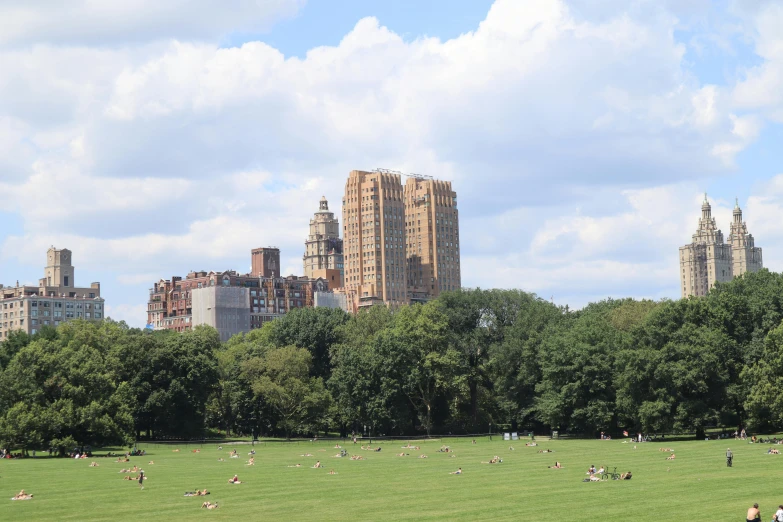
M452 181L466 287L676 299L705 192L781 271L780 27L783 0L5 0L0 283L68 248L143 326L155 281L255 247L301 275L320 197L374 168Z

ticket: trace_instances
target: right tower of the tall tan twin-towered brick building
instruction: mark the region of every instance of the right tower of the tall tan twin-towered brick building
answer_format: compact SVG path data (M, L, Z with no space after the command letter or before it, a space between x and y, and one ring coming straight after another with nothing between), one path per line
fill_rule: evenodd
M449 181L415 175L404 192L408 296L426 301L461 286L457 193Z

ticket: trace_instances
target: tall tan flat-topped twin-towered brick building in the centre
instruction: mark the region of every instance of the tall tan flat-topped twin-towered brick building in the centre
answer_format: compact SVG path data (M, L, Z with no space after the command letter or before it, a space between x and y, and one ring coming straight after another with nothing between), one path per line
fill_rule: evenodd
M461 287L451 182L354 170L343 197L344 291L354 309L424 302Z

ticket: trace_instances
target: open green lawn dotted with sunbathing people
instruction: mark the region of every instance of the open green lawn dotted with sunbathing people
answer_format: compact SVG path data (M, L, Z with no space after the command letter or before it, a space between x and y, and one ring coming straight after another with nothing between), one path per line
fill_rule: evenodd
M783 455L769 445L739 441L624 444L621 441L550 441L537 448L524 441L448 440L455 457L438 453L441 442L381 442L380 453L348 445L364 461L334 458L331 443L256 445L256 465L245 466L250 445L144 446L131 457L148 475L143 491L122 480L115 459L19 459L0 462L0 520L744 520L753 502L764 520L783 503L778 481ZM509 450L513 444L514 451ZM666 461L675 450L677 458ZM726 448L734 452L727 468ZM229 459L236 447L240 458ZM780 447L780 446L776 446ZM539 449L553 454L539 454ZM405 451L410 456L398 457ZM314 457L301 457L312 453ZM428 459L416 458L425 453ZM499 455L503 462L481 464ZM218 458L225 462L219 462ZM99 467L90 468L90 460ZM153 465L148 462L154 460ZM320 460L325 469L311 469ZM559 460L564 469L548 469ZM301 463L301 468L287 466ZM591 465L633 471L630 481L583 483ZM463 475L449 475L462 467ZM334 469L337 475L329 475ZM243 482L230 485L235 473ZM220 509L200 509L201 497L185 491L207 488ZM29 501L9 500L20 489Z

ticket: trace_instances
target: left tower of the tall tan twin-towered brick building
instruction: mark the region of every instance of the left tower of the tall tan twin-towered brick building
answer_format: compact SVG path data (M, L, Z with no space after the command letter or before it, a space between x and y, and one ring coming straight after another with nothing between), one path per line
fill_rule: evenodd
M408 302L400 174L353 170L343 197L345 288L358 306Z

